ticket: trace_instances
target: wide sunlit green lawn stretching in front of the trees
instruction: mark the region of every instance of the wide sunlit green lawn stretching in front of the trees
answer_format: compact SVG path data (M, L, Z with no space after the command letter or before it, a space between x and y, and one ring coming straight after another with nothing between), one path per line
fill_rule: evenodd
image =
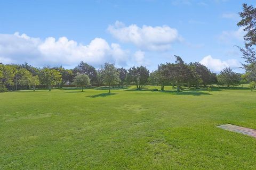
M134 88L0 94L0 169L255 169L256 92Z

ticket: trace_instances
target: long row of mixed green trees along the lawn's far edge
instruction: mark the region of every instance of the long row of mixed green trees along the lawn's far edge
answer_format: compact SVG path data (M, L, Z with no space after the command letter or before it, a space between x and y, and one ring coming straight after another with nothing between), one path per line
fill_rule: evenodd
M211 72L206 66L195 62L186 64L182 58L175 56L175 63L158 65L157 70L149 72L145 66L132 66L130 69L117 68L115 64L105 63L100 69L92 65L79 63L74 69L60 67L38 68L25 64L0 64L0 91L52 87L62 88L67 84L76 86L108 86L111 87L135 85L138 90L146 84L161 85L161 90L167 85L177 87L195 87L219 84L222 86L237 86L245 75L233 72L229 67L219 75Z

